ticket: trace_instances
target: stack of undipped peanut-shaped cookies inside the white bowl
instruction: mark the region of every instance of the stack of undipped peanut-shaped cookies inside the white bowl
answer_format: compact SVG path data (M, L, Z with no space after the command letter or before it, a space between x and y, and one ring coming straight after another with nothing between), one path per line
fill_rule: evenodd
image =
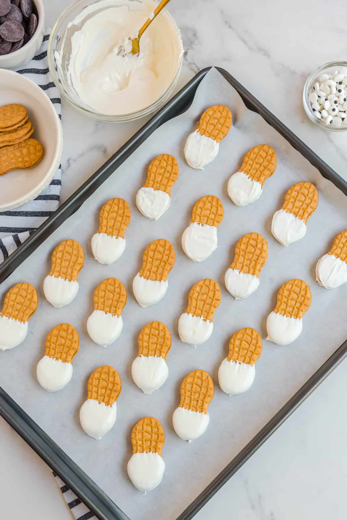
M43 158L40 142L30 138L34 127L21 105L0 107L0 175L31 168Z

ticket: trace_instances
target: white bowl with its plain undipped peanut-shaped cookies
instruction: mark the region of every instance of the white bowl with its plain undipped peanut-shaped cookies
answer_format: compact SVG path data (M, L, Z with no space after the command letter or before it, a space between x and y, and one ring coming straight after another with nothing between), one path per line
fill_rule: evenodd
M0 69L0 85L1 212L37 198L55 182L63 137L58 113L36 83Z

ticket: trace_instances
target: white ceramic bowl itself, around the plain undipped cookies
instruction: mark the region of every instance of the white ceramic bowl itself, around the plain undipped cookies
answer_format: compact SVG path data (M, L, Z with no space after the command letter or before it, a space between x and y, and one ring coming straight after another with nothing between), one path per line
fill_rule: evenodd
M12 170L0 175L0 211L33 200L54 177L62 154L62 129L58 114L43 90L27 77L0 69L0 106L23 105L34 126L31 137L41 142L44 156L28 170Z

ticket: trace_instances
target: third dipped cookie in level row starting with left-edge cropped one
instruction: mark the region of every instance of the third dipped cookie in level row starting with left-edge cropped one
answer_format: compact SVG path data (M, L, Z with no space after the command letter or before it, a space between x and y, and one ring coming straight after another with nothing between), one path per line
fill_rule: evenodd
M178 334L188 345L201 345L213 330L213 316L221 303L221 290L210 278L200 280L190 289L188 306L178 320Z

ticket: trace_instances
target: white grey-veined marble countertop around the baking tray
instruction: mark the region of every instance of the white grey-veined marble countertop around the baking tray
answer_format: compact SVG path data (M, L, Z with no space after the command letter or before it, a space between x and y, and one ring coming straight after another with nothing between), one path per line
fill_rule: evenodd
M45 2L47 27L69 3ZM301 100L312 70L346 56L343 8L342 0L330 7L323 0L172 0L186 51L177 89L204 67L225 68L347 179L347 135L311 123ZM145 121L100 123L63 102L62 201ZM346 376L342 363L196 518L344 519L337 497L347 481ZM71 520L49 468L2 419L0 436L2 517Z

